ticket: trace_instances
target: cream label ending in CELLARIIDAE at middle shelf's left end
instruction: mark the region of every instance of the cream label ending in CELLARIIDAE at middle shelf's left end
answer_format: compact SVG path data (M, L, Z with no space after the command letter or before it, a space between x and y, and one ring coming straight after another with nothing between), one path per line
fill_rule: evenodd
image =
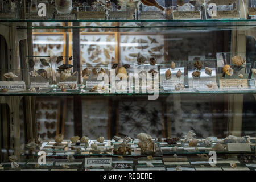
M22 92L26 89L24 81L0 81L0 90L8 89L8 92Z

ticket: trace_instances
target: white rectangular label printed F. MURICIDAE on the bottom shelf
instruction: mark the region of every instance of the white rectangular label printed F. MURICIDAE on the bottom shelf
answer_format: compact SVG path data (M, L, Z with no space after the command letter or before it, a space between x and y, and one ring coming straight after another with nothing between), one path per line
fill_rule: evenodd
M112 158L85 158L85 167L111 167Z

